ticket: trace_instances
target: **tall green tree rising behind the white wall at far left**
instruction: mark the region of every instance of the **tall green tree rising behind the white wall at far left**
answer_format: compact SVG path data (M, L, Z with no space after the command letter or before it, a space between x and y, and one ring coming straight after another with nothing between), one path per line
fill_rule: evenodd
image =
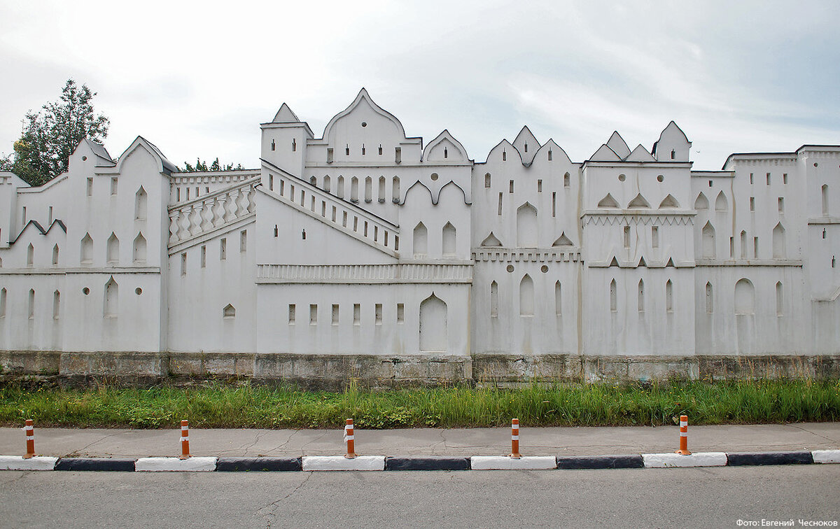
M96 114L91 100L97 92L68 79L58 101L48 102L39 113L26 114L14 154L0 159L0 169L11 170L30 186L40 186L67 170L67 159L82 139L102 144L110 122Z

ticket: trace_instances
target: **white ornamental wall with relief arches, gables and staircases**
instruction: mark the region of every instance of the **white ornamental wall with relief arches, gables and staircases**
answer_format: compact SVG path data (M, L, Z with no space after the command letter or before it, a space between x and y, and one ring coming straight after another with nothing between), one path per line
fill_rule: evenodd
M0 350L840 353L838 146L692 170L673 122L582 162L524 127L475 163L365 90L320 138L286 104L260 127L255 170L138 138L45 186L0 173Z

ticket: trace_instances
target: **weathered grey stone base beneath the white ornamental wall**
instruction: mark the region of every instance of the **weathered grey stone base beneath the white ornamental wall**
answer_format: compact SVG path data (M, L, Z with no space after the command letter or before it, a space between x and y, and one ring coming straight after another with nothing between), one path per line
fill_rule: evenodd
M840 354L812 356L594 356L473 354L64 353L0 351L0 380L86 385L113 381L150 385L162 380L249 379L309 389L341 389L350 380L387 388L458 383L662 380L840 380Z

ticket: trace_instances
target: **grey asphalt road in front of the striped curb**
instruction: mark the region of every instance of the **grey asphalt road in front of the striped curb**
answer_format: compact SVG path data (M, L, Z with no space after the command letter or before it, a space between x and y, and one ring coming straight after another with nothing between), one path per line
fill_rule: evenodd
M738 527L840 521L840 465L465 472L0 472L0 526Z

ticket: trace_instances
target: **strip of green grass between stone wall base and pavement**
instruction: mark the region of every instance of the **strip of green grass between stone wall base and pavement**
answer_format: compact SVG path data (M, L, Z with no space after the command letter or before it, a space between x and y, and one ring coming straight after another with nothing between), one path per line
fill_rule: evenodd
M840 420L840 381L756 380L654 385L452 386L340 392L291 387L160 385L86 389L0 387L0 423L51 427L362 428L759 424Z

